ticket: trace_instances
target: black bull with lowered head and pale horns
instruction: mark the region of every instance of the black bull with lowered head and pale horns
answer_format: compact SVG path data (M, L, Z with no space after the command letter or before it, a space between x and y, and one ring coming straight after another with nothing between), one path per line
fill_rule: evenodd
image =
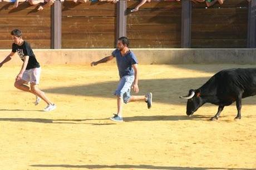
M256 94L256 68L224 69L211 77L198 89L190 89L186 114L192 116L205 103L219 106L218 112L211 120L218 119L225 106L237 103L237 117L241 118L242 98Z

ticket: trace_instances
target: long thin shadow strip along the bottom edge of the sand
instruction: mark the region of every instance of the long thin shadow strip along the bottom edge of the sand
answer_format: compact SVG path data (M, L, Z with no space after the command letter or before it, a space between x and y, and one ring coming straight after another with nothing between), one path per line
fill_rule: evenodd
M32 164L32 167L62 167L62 168L87 168L87 169L103 169L103 168L111 168L111 169L163 169L163 170L252 170L254 168L211 168L211 167L174 167L174 166L152 166L147 164L140 165L130 165L130 164L120 164L120 165L99 165L99 164L91 164L91 165L71 165L71 164Z

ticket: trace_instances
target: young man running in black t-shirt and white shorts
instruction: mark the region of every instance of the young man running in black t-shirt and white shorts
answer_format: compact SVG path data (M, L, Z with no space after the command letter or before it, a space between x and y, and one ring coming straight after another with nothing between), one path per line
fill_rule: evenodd
M12 44L12 52L0 63L0 67L3 66L4 63L10 61L14 53L18 53L19 58L23 61L21 71L16 77L14 86L18 89L21 89L25 92L30 92L36 95L36 102L37 105L41 99L47 103L47 107L43 109L43 111L52 111L56 108L56 105L52 103L45 95L38 88L38 84L40 81L40 73L41 67L40 64L37 62L36 56L33 53L30 45L22 39L22 33L19 29L13 29L11 32L11 36L13 39ZM30 88L25 84L30 83Z

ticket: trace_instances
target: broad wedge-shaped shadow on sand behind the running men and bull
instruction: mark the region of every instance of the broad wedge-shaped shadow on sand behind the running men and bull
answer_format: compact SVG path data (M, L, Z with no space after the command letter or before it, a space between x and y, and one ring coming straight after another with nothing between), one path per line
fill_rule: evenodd
M179 96L186 95L191 88L199 88L209 77L200 78L174 78L174 79L141 79L139 81L140 92L138 95L144 95L152 92L154 102L186 105L186 100L180 99ZM47 93L67 94L72 96L89 96L114 98L113 92L117 87L117 81L108 81L94 84L85 84L79 86L43 89ZM132 94L134 94L132 92ZM136 95L136 94L135 94ZM255 97L243 99L243 104L256 104ZM217 109L217 106L216 106Z

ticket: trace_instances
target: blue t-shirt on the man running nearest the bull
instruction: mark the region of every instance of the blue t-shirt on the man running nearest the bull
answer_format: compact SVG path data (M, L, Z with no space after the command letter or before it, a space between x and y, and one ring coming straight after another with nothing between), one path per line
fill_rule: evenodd
M119 76L122 78L123 76L133 76L134 75L134 69L132 68L133 64L137 64L137 58L133 52L129 50L125 56L121 55L121 52L119 49L115 49L115 51L112 52L112 56L116 57L116 63L119 70Z

